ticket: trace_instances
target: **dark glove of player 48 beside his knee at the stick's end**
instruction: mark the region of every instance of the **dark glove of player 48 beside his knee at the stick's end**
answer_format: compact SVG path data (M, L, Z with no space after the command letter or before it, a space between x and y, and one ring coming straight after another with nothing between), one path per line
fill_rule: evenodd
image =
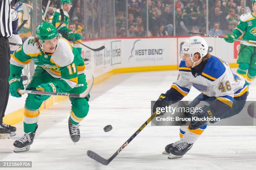
M207 123L207 117L212 118L213 114L214 112L210 106L202 106L201 110L198 110L198 112L195 112L195 114L190 114L191 122L189 129L195 130L200 128L202 125L205 125Z

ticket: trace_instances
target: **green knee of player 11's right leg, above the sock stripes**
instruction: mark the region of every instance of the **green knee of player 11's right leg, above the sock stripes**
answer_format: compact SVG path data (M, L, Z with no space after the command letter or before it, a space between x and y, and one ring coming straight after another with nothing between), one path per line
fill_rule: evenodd
M89 111L88 101L85 98L72 100L72 111L80 118L87 116Z

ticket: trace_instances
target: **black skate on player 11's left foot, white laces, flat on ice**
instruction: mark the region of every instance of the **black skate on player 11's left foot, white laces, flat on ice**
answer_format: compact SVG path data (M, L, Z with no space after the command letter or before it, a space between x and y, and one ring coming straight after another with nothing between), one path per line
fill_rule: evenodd
M18 153L18 152L28 151L30 149L30 145L32 145L34 141L37 128L38 128L38 125L36 125L36 129L34 133L32 132L25 133L22 138L20 138L19 140L15 140L15 142L13 143L14 145L13 152Z

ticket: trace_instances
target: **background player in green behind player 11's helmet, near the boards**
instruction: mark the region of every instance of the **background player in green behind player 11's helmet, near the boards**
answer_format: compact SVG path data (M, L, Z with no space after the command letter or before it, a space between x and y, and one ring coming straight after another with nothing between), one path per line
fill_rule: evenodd
M72 30L69 30L69 10L72 7L72 0L61 0L61 8L64 12L64 22L63 24L59 27L61 24L61 13L60 10L56 10L54 15L50 18L52 20L52 24L58 28L58 32L61 33L63 37L65 37L67 40L73 41L74 47L77 48L79 53L81 54L82 48L79 46L80 44L77 41L82 43L82 36L74 33Z

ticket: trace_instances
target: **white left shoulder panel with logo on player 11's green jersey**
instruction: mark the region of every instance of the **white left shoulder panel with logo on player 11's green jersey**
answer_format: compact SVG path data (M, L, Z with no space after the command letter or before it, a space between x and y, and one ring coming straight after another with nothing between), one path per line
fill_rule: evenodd
M38 45L36 45L35 37L29 37L23 43L23 51L26 55L31 57L36 57L41 54L41 51L38 49Z

